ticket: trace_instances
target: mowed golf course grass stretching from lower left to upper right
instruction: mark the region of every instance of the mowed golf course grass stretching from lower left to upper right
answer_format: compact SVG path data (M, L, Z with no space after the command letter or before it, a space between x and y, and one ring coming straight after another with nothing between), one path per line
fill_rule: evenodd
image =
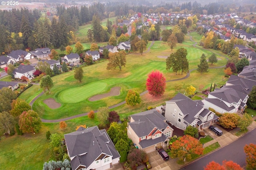
M151 42L149 42L149 44L150 43ZM178 44L177 47L171 51L166 43L155 41L153 47L150 49L150 52L144 53L143 55L127 55L127 63L126 66L122 68L122 71L119 71L118 69L114 71L106 70L108 61L84 67L84 78L81 83L74 79L74 71L54 76L52 77L54 87L51 89L51 93L49 94L46 92L44 95L38 98L33 105L33 109L37 111L40 117L44 119L59 119L69 117L98 109L98 107L112 106L122 102L124 101L129 89L137 90L140 93L143 92L146 90L145 82L147 75L152 70L158 69L162 71L167 80L182 78L186 76L186 74L175 75L172 70L167 71L165 63L166 60L158 58L157 56L168 56L170 53L175 52L178 48L184 47L188 50L187 58L189 61L189 68L196 68L202 53L209 56L212 52L203 48L197 49L195 47L191 47L189 44L191 43L186 37L186 44ZM218 54L218 51L214 51L214 53ZM220 55L222 54L220 53ZM224 65L223 63L225 63L226 59L220 55L218 55L218 58L221 60L219 60L218 63L215 63L213 66ZM216 82L219 86L221 83L225 82L225 79L223 78L223 70L224 68L209 69L209 72L203 74L194 70L190 72L190 77L185 80L166 83L166 92L163 96L152 97L149 94L145 94L141 96L142 103L140 105L134 107L122 105L112 110L117 111L120 118L125 118L131 114L145 111L148 106L159 106L161 104L165 104L165 101L170 100L176 94L173 87L178 83L191 84L196 89L198 89L200 85L207 88L212 82ZM90 87L92 84L95 86L101 84L102 87L100 88L103 90L98 90L94 88L94 86ZM88 88L88 86L93 90L98 90L97 93L100 94L108 92L114 86L120 86L121 92L119 96L112 96L99 101L90 102L88 101L88 97L94 94L87 91L88 89L86 89L86 87ZM41 92L38 89L38 85L33 85L23 94L21 94L20 98L30 102L37 94ZM73 91L68 92L69 89ZM69 93L70 95L72 94L72 99L67 97L67 94ZM73 96L76 93L84 93L84 95L87 96L86 98L82 96L82 94L79 94L80 96ZM64 99L62 99L63 96ZM83 100L80 100L81 96L84 97ZM56 102L61 103L62 106L58 109L50 109L43 102L47 98L54 98ZM69 100L69 103L65 103L62 100ZM76 103L71 103L74 101L76 101ZM83 116L68 120L66 123L68 127L63 131L60 130L59 123L43 123L42 129L38 134L24 134L23 136L14 135L8 138L1 137L0 145L3 147L0 147L0 169L42 169L44 162L51 158L51 149L49 147L49 141L46 140L46 131L64 135L66 133L75 131L76 126L78 125L92 127L99 124L97 113L95 119L93 120L88 119L88 116ZM205 152L218 148L219 145L217 144L206 147Z

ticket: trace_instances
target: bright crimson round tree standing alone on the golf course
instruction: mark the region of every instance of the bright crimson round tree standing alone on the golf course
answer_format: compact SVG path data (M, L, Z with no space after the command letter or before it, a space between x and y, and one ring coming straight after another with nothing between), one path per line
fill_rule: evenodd
M162 96L166 87L166 78L159 70L152 71L148 74L146 88L152 96Z

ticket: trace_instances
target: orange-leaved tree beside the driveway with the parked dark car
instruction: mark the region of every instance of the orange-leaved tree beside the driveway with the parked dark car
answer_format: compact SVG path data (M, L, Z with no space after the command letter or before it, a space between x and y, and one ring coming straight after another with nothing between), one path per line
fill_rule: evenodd
M191 160L192 155L202 155L203 145L200 141L190 135L184 135L172 143L171 157L180 161Z

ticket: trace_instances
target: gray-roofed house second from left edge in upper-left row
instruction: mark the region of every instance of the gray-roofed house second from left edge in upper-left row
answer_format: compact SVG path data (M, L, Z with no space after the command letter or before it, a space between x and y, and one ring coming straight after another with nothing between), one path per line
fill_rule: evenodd
M23 50L13 50L10 54L7 55L7 57L9 57L13 63L33 58L30 53Z

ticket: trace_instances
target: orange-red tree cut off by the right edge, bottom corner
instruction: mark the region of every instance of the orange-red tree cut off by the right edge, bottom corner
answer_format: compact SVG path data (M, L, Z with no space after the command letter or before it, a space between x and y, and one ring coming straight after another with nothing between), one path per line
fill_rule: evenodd
M244 146L244 152L246 154L246 168L248 170L256 169L256 145L250 143Z

